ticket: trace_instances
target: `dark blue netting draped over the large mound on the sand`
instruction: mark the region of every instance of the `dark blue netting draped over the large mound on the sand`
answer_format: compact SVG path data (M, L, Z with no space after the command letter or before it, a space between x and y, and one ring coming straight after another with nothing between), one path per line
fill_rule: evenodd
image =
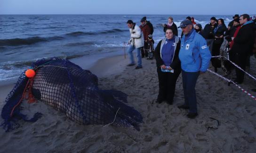
M100 90L96 75L83 70L69 60L61 58L42 59L35 62L36 75L32 84L32 94L40 101L64 112L67 117L79 124L110 124L123 127L134 127L139 130L143 122L141 114L125 105L127 95L116 90ZM12 129L16 120L26 116L16 108L10 117L10 111L22 97L28 79L21 74L16 86L9 93L6 105L2 110L3 126ZM118 110L119 109L119 110ZM36 113L29 121L40 117ZM14 126L15 127L15 126Z

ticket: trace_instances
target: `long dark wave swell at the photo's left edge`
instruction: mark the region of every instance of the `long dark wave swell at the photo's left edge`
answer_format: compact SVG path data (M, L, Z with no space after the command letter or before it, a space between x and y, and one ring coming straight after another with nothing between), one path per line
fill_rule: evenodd
M13 39L0 39L0 46L16 46L16 45L30 45L39 42L48 42L52 40L61 40L63 37L61 36L53 36L53 37L40 37L33 36L28 38L13 38Z

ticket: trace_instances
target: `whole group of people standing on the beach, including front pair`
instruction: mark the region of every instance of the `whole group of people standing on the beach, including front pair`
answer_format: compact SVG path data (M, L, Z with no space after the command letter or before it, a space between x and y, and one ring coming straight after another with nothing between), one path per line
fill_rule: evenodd
M131 20L127 22L130 28L131 44L128 49L130 64L134 66L132 51L136 50L138 65L136 69L142 68L141 58L152 59L152 52L156 59L157 74L159 79L159 94L156 102L167 101L173 103L175 94L176 80L182 73L184 104L178 106L179 109L189 109L187 117L195 118L197 113L197 102L195 86L200 73L207 71L209 63L215 69L220 68L221 61L219 56L221 45L227 42L230 60L245 71L249 66L249 57L256 53L256 19L254 20L247 14L234 15L233 20L225 25L223 19L211 17L210 22L202 28L197 24L193 17L188 16L181 22L181 38L178 37L178 28L174 23L173 17L168 18L168 23L163 24L165 37L157 44L153 50L153 26L146 20L141 19L138 27ZM151 57L149 58L149 54ZM239 68L226 65L227 73L232 68L235 69L235 83L240 84L244 81L244 72ZM255 90L256 91L256 90Z

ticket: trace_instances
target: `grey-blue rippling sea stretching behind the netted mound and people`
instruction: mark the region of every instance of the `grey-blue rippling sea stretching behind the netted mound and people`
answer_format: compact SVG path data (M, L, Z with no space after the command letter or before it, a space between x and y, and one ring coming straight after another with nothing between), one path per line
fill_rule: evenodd
M0 82L17 78L40 58L123 54L130 38L126 22L139 25L144 16L153 24L155 47L169 16L179 26L189 15L0 15ZM232 15L190 16L202 27L212 16L226 25L232 21Z

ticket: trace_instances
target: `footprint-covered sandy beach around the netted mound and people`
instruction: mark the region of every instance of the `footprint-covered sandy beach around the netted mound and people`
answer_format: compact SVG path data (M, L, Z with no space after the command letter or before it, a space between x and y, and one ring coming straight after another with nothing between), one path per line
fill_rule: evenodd
M83 60L86 57L72 62L85 67ZM143 58L143 68L138 70L135 66L127 67L128 63L128 57L124 59L123 55L102 58L89 70L98 76L99 88L128 95L127 104L144 117L140 131L112 125L79 125L42 102L24 101L27 114L39 111L43 116L35 123L19 121L20 127L10 132L0 128L0 152L255 153L256 100L238 87L227 86L227 82L209 72L201 74L196 86L199 116L189 119L187 110L177 108L184 103L181 75L173 105L158 104L155 60ZM249 72L256 75L254 57ZM218 73L224 75L221 69ZM0 87L0 109L12 87L14 83ZM246 76L241 87L251 93L256 81ZM210 117L220 122L218 129L208 129L217 127L217 121Z

